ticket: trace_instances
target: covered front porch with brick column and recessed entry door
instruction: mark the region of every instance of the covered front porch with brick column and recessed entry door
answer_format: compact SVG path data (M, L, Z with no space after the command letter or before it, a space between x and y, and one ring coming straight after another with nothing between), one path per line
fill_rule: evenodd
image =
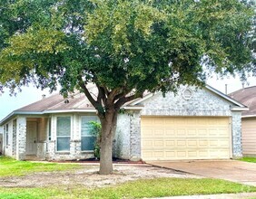
M44 160L50 120L48 117L18 116L5 124L4 155L17 160Z

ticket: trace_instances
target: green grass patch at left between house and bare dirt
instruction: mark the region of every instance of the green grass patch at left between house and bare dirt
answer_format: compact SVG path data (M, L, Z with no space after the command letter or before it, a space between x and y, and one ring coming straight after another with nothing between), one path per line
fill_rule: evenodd
M0 156L0 177L26 175L33 172L64 171L80 167L80 165L76 164L33 163L28 161L17 161L10 157Z

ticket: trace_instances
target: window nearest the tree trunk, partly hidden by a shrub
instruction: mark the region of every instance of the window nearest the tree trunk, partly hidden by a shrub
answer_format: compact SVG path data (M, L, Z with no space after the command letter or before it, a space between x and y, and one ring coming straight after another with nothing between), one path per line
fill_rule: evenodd
M94 150L95 135L92 134L92 125L90 121L98 121L96 116L81 117L81 149L82 151Z

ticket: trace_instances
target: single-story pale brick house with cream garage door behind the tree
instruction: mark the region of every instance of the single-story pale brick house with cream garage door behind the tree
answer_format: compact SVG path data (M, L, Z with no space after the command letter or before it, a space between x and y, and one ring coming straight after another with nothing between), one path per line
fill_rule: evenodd
M91 90L93 92L93 90ZM241 111L247 108L206 85L177 94L146 94L123 106L113 156L130 160L228 159L241 156ZM84 159L94 156L95 109L82 93L56 94L0 122L6 156Z

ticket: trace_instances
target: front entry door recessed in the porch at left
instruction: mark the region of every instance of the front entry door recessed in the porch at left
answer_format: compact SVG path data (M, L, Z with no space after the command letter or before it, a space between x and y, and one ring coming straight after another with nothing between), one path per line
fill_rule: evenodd
M36 154L37 124L27 122L26 124L26 155Z

